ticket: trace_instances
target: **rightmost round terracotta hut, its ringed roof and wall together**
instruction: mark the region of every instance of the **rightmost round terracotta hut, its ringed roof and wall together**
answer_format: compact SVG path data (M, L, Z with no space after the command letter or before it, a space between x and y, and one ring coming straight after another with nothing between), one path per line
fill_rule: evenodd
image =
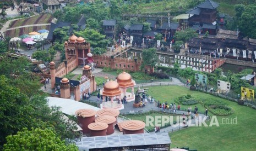
M128 120L121 124L123 134L144 133L145 123L140 120Z

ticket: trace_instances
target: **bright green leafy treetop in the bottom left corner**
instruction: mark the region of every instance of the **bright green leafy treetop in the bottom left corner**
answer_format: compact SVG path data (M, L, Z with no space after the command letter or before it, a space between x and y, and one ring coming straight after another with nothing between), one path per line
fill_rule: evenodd
M4 150L78 150L75 144L65 144L51 129L23 129L7 137Z

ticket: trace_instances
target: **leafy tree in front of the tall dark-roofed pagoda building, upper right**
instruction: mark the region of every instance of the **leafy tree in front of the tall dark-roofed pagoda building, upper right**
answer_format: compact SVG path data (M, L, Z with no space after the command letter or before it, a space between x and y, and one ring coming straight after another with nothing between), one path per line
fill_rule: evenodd
M184 31L176 31L175 39L182 40L184 43L192 37L197 37L198 34L192 28L186 28Z

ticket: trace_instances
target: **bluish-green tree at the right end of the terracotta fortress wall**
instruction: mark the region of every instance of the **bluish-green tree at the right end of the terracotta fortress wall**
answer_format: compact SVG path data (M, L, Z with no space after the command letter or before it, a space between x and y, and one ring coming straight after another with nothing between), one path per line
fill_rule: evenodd
M140 69L144 69L145 66L154 67L158 62L155 48L149 48L142 51L142 63Z

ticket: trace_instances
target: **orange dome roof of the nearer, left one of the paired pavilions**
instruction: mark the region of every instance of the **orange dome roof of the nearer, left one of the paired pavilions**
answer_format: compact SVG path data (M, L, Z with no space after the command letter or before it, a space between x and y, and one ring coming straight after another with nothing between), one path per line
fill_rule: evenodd
M105 83L104 89L102 91L102 95L104 96L117 96L121 95L121 91L119 90L119 84L114 81L109 81Z

